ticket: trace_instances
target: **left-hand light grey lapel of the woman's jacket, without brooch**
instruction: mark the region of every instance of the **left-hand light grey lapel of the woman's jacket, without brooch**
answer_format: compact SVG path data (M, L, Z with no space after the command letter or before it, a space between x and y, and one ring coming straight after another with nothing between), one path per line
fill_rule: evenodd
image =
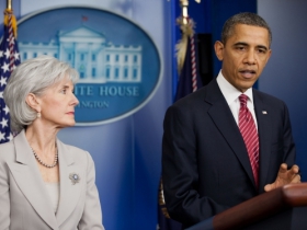
M41 176L31 147L25 138L24 130L14 139L16 162L8 163L9 169L29 203L52 228L58 229L44 181Z

